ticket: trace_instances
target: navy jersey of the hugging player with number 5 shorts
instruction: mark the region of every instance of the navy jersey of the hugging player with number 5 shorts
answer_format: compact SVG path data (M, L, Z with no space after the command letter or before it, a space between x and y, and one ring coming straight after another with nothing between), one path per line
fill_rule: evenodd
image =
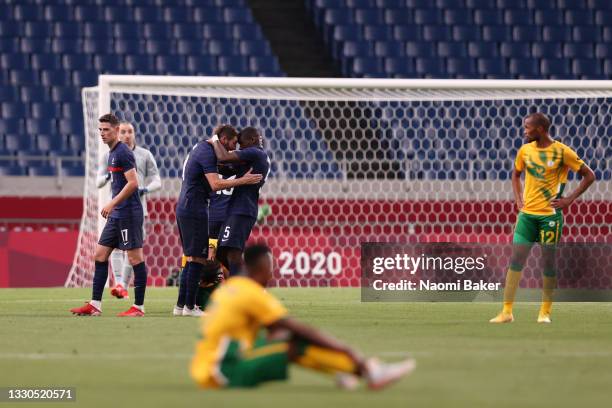
M270 159L261 147L247 147L236 151L241 161L237 168L238 177L242 177L249 169L253 169L253 174L261 174L263 178L258 184L238 186L234 189L234 194L229 202L229 215L247 215L257 217L257 201L259 200L259 190L266 182L266 177L270 171Z

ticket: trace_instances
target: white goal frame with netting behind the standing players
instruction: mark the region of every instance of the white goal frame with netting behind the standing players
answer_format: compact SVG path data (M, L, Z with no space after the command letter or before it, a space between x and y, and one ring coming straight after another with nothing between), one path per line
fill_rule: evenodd
M133 123L161 172L145 222L153 286L179 267L183 161L220 123L264 136L272 169L260 206L269 215L251 241L273 248L274 285L358 286L362 242L511 242L510 174L523 118L535 111L598 179L565 212L563 241L611 240L611 82L101 76L83 107L84 211L67 286L93 275L108 197L95 186L106 149L97 118L109 111ZM576 185L570 176L566 191Z

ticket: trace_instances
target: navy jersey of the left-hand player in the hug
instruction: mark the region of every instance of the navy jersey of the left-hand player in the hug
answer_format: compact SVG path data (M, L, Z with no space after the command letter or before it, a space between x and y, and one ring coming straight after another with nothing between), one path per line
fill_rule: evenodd
M176 213L183 216L207 217L208 197L212 191L205 174L217 172L217 157L210 143L196 144L183 164L183 183Z

